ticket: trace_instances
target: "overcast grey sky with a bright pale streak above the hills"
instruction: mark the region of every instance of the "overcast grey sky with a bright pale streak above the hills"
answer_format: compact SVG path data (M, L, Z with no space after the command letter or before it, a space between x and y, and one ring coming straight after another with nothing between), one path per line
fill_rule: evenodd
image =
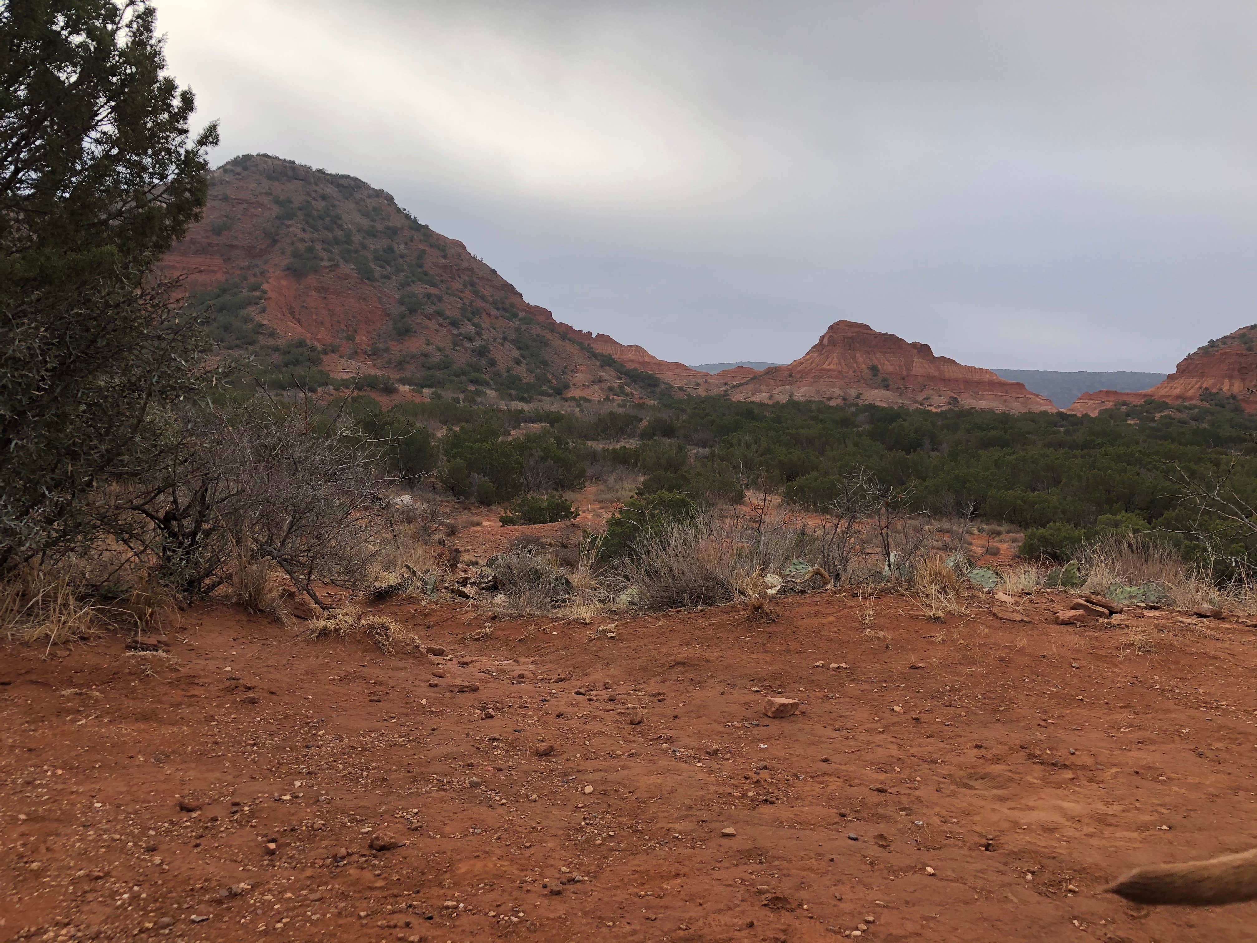
M1257 322L1257 4L157 0L215 163L352 174L689 363L864 321L1173 370Z

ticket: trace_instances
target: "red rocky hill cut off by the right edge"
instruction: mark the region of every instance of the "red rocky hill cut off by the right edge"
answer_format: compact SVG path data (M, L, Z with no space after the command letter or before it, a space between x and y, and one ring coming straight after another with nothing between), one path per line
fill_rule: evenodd
M1144 400L1199 402L1202 394L1234 396L1246 412L1257 412L1257 326L1242 327L1184 357L1174 372L1151 390L1082 394L1067 412L1094 416L1100 410Z

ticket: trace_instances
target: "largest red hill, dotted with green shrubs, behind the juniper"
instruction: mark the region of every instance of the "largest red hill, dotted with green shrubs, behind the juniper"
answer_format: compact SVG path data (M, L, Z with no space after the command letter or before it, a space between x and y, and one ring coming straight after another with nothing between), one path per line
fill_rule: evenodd
M657 396L669 391L659 377L689 390L705 378L556 321L390 194L269 155L214 171L204 219L163 268L226 352L332 380L602 399Z

